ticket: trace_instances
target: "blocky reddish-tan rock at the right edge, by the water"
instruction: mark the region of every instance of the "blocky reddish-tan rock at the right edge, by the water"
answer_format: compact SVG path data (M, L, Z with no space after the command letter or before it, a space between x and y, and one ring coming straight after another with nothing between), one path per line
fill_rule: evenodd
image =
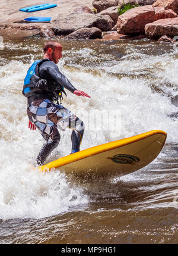
M145 26L145 34L148 38L157 39L161 36L178 35L178 18L165 18L149 23Z

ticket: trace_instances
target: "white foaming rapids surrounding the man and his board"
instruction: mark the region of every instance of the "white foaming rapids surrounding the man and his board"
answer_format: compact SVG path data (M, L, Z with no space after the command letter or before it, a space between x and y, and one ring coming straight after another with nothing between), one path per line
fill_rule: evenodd
M84 48L78 54L88 58L93 51ZM80 110L79 117L84 122L90 110L120 111L117 117L120 129L86 130L81 149L154 129L167 132L167 142L176 142L177 120L168 115L177 112L177 108L167 96L168 92L174 95L175 90L166 83L176 85L177 65L169 54L154 58L144 55L142 62L131 57L131 60L115 61L112 67L103 64L101 68L96 67L95 74L86 67L66 67L64 57L59 68L77 89L91 96L88 99L68 92L63 101L66 108ZM89 200L81 188L69 183L59 171L39 173L32 167L44 141L37 131L28 129L26 98L21 94L28 67L29 64L20 60L0 67L0 218L4 220L52 216L85 205ZM115 76L118 73L146 74L146 69L152 70L152 77ZM151 89L154 81L158 87L165 82L164 93ZM48 161L71 152L70 136L71 130L61 133L60 145Z

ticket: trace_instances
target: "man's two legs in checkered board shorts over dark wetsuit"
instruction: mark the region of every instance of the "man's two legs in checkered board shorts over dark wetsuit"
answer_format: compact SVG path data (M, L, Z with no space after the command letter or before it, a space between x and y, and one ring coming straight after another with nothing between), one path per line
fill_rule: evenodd
M72 153L80 151L80 144L84 135L84 123L71 111L62 105L53 104L49 100L39 100L27 108L27 114L31 123L35 124L47 142L37 156L37 164L42 165L53 149L58 146L61 136L57 124L61 130L65 130L66 127L73 129L71 135Z

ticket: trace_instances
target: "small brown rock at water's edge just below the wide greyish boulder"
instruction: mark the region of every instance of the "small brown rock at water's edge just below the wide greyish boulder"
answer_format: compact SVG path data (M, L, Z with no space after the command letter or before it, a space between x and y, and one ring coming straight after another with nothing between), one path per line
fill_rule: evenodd
M83 29L78 29L72 32L71 34L66 36L66 38L96 39L96 38L101 38L101 35L102 35L102 32L97 27L91 27L91 28L84 27Z

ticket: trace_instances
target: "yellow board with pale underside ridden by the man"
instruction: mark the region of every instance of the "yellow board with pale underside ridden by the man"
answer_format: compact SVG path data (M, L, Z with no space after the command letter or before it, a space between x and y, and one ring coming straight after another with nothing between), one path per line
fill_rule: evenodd
M123 176L151 163L163 148L166 137L166 132L152 130L67 155L39 167L39 170L56 168L66 174L75 173L79 176Z

